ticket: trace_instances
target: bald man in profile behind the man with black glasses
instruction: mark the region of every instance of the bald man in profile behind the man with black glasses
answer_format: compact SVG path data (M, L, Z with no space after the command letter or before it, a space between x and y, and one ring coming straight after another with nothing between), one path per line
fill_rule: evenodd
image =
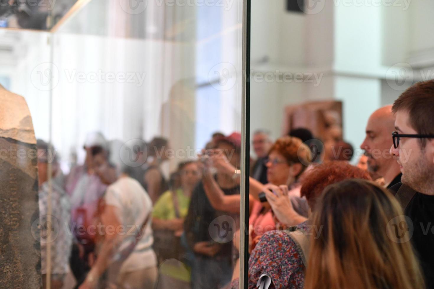
M401 182L401 171L396 159L389 153L392 132L395 130L395 116L392 106L375 110L366 125L366 137L360 148L368 157L368 172L374 178L384 178L385 187Z

